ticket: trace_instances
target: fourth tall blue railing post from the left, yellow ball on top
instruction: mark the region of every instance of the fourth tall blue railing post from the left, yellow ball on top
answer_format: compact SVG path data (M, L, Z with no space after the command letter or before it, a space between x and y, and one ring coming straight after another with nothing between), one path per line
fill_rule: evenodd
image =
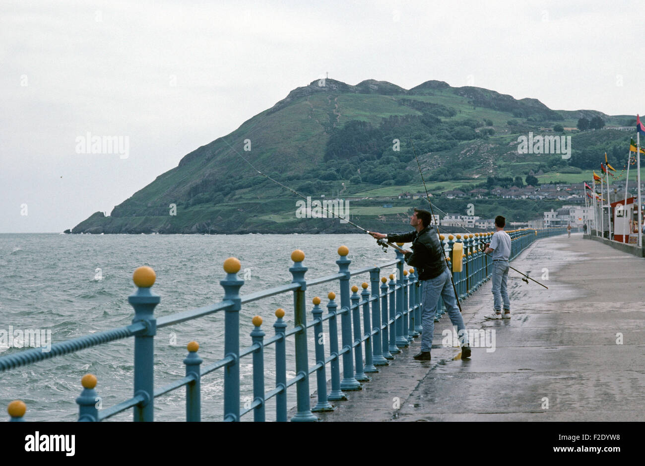
M361 383L354 378L354 363L352 360L352 316L350 309L350 250L346 246L338 248L340 259L336 261L339 273L344 277L339 279L341 287L341 334L342 334L342 380L341 390L361 390Z

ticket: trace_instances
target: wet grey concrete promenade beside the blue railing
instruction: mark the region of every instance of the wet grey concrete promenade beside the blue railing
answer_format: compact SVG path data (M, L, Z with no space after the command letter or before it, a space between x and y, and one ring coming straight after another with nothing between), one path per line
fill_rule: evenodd
M432 361L413 360L415 339L319 418L643 420L645 260L572 234L536 241L511 266L549 289L510 270L511 319L484 318L493 309L491 281L462 303L467 329L495 330L494 351L473 347L461 360L459 348L442 346L442 330L452 328L446 314L435 324Z

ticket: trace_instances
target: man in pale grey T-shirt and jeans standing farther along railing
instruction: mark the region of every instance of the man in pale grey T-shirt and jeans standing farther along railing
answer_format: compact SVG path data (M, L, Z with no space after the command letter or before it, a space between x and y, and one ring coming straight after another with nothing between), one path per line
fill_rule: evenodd
M486 319L510 319L511 301L508 299L506 285L508 283L508 259L511 257L511 237L504 231L506 219L501 215L495 217L495 234L490 243L486 243L486 254L493 258L493 307L494 314L485 316ZM504 315L502 316L502 303Z

